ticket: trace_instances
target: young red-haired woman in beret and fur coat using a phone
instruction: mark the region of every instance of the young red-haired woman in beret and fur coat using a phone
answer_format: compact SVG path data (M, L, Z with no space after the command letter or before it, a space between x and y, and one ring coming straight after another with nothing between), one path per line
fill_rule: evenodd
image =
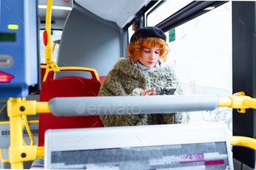
M184 91L172 66L165 65L169 47L164 32L156 27L138 29L127 48L128 59L120 58L105 77L99 96L159 95L165 87ZM154 102L154 101L152 101ZM105 126L188 123L189 113L150 115L100 115Z

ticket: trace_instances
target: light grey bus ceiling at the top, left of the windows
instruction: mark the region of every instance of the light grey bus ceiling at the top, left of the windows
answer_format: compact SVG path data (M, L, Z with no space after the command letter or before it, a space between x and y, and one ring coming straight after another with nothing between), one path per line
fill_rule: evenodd
M69 15L70 10L74 4L78 4L94 15L99 16L105 20L116 23L119 28L124 26L131 21L135 15L142 9L149 0L64 0L64 1L53 1L52 11L52 28L62 29L64 22ZM46 9L44 6L47 5L47 1L39 0L39 18L40 28L45 28L45 13ZM67 7L64 10L54 9L54 7Z

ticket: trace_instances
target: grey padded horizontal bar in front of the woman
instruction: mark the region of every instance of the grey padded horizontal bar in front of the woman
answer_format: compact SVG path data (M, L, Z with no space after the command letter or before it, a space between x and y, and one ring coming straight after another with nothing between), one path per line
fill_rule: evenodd
M80 115L138 115L213 110L219 98L207 96L98 96L52 98L50 111L57 117Z

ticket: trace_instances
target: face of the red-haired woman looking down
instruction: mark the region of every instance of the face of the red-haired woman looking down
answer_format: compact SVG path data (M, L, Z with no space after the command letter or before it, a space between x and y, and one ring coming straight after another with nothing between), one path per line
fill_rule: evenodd
M144 66L151 68L157 63L159 59L159 52L160 52L159 45L151 48L151 47L144 47L143 50L140 51L140 57L138 61L143 63Z

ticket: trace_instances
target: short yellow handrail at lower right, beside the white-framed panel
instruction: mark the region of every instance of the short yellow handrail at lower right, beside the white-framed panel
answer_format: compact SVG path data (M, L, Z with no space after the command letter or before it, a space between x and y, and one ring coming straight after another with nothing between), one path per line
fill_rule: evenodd
M230 144L233 146L249 147L252 150L256 150L256 139L249 137L232 136L230 137Z

